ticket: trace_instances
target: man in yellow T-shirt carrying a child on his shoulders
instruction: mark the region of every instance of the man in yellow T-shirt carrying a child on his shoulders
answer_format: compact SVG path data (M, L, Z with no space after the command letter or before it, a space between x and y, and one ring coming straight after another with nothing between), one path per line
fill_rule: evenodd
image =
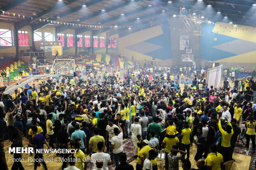
M168 158L168 154L171 152L173 145L179 144L179 142L180 141L178 137L175 137L174 135L166 135L166 137L164 137L162 145L164 146L166 144L166 147L165 147L166 158ZM169 161L168 159L165 159L165 169L168 170L169 169L168 167L169 167Z

